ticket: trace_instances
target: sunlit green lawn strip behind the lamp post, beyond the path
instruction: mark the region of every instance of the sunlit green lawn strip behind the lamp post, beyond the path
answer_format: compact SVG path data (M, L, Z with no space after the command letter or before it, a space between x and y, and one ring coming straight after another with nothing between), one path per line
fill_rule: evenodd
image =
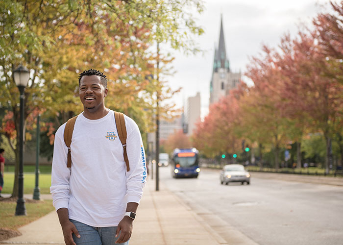
M14 172L4 172L4 184L2 193L12 193L14 183ZM24 172L24 194L33 194L33 190L36 184L36 175L32 172ZM51 185L51 174L40 173L39 183L41 194L49 194ZM1 209L0 209L1 210ZM2 210L1 210L2 212Z

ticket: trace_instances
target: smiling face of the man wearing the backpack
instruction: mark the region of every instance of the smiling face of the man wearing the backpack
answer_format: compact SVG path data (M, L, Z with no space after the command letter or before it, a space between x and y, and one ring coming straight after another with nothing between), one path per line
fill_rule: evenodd
M83 76L78 88L83 108L90 112L96 112L104 107L104 98L107 96L107 88L100 81L100 76Z

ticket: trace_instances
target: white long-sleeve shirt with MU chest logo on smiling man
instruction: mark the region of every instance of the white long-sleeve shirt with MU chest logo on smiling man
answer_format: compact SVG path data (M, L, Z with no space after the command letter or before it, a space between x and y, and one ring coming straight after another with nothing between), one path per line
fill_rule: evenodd
M127 116L124 119L129 172L112 110L98 120L78 115L71 144L72 168L67 168L66 123L58 128L50 192L55 209L68 208L69 219L96 227L117 226L126 204L140 202L147 178L145 152L137 124Z

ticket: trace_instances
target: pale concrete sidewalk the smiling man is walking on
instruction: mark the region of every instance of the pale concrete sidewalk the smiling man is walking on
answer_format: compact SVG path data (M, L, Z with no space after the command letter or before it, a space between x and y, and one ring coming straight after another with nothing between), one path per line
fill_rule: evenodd
M162 184L162 185L161 185ZM21 236L0 244L63 245L62 229L55 211L21 228ZM246 243L247 242L247 243ZM251 242L251 243L250 243ZM254 244L241 240L234 244ZM137 210L130 245L228 245L207 221L160 183L155 191L148 180Z

